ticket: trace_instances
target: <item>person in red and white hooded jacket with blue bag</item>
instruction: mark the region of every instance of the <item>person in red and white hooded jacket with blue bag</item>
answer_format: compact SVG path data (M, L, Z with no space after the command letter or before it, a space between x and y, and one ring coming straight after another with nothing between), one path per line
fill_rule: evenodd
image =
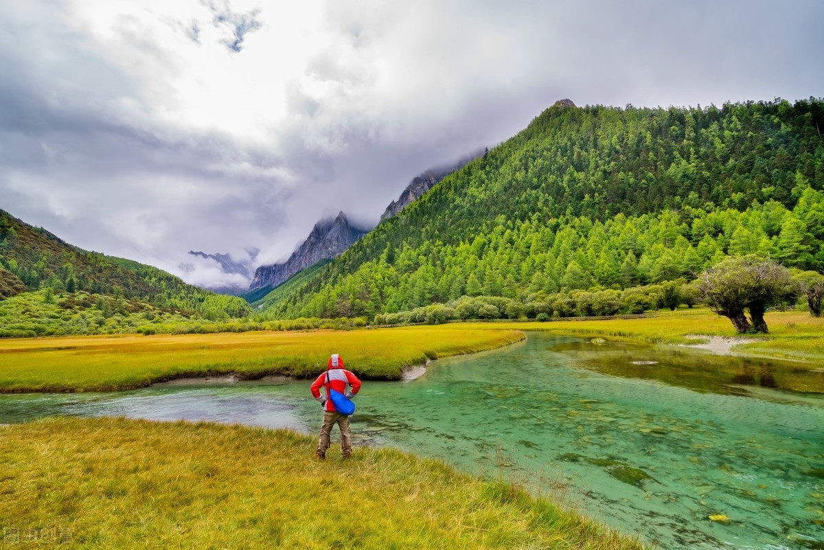
M326 371L317 377L311 384L312 397L323 406L323 424L321 425L321 440L318 441L315 456L319 459L326 458L326 450L329 449L332 426L338 425L340 430L340 455L348 458L352 455L352 440L350 439L349 417L338 413L335 404L329 399L329 389L335 389L347 398L352 399L360 391L360 380L350 371L344 368L344 359L338 353L332 354L326 363ZM321 386L326 390L326 395L321 395ZM352 389L346 392L346 386Z

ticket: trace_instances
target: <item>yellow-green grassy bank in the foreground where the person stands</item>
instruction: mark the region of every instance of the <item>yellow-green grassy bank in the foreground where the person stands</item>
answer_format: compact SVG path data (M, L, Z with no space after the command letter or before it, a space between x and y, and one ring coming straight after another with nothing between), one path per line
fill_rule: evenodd
M209 423L0 426L0 525L7 536L63 534L60 548L642 548L433 460L358 448L321 462L314 446L293 432Z

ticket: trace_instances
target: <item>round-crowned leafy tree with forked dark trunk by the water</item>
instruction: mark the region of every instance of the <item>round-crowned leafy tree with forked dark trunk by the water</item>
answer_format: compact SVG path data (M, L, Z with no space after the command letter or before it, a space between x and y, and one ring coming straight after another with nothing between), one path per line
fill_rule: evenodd
M730 319L737 333L767 333L767 308L796 292L787 268L755 255L724 259L702 273L699 281L706 303L717 314ZM745 310L749 310L750 319Z

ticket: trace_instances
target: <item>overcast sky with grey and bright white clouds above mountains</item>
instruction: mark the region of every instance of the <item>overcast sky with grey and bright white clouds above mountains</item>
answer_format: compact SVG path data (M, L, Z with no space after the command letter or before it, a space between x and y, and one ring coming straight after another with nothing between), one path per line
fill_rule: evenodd
M274 263L321 217L374 224L561 98L824 96L822 22L819 0L0 0L0 208L230 282L187 251Z

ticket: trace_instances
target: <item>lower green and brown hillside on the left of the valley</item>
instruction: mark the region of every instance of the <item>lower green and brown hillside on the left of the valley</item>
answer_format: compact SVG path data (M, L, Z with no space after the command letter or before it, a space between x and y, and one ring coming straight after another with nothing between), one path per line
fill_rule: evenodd
M49 288L145 302L187 317L227 319L250 313L241 298L193 287L142 263L77 248L2 210L0 268L0 298Z

